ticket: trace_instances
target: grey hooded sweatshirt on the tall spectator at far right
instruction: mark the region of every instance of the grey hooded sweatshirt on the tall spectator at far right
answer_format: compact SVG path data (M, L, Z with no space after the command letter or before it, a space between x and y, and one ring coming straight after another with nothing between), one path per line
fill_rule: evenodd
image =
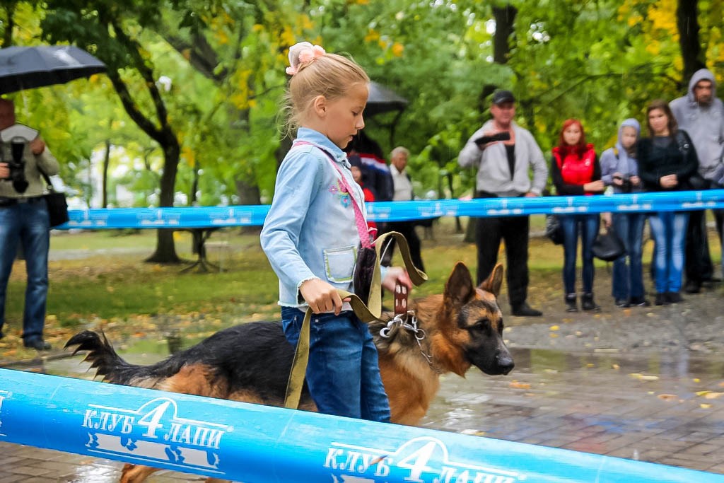
M694 85L700 80L712 82L712 102L702 106L694 99ZM670 102L676 122L691 137L699 157L699 174L707 180L719 182L724 176L724 103L717 98L714 74L707 69L694 72L686 96Z

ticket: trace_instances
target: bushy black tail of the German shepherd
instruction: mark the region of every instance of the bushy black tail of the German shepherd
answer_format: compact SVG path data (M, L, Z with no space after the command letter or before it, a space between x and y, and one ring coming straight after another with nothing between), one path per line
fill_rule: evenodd
M102 337L102 338L101 338ZM106 335L101 332L84 330L68 340L65 348L77 345L73 355L82 350L88 350L83 361L90 362L90 367L96 369L96 376L103 376L104 381L114 384L127 385L132 377L138 375L145 366L128 364L116 353Z

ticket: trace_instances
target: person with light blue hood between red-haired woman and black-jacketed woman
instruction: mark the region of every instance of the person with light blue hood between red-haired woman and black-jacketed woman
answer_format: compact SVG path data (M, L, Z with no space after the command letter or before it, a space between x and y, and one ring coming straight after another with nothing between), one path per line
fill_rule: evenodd
M639 163L636 162L636 140L640 131L641 125L636 119L626 119L618 129L616 146L601 154L601 179L605 185L613 186L614 193L636 193L643 189L639 178ZM650 305L644 296L644 273L641 265L644 223L645 213L613 214L613 228L626 245L626 255L613 262L612 294L618 307Z

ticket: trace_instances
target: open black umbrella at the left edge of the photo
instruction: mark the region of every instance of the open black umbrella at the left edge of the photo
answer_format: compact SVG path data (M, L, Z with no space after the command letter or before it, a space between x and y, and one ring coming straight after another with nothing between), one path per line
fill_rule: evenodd
M64 84L106 71L106 65L76 46L0 49L0 94Z

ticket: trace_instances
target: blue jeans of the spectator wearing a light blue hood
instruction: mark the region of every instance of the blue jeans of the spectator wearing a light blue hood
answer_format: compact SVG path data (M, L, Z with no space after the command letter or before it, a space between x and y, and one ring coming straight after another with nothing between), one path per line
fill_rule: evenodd
M613 229L626 246L626 255L613 261L612 295L617 301L644 298L641 244L644 239L645 223L645 213L613 214Z

